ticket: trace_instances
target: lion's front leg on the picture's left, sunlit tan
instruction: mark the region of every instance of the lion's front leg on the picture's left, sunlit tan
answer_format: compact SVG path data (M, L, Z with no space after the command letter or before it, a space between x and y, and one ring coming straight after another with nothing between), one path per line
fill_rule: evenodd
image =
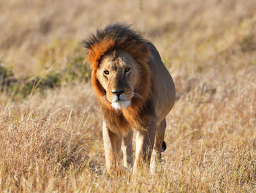
M102 135L105 149L105 160L108 173L111 176L121 175L122 169L119 162L119 151L121 148L121 137L108 129L108 125L103 121Z

